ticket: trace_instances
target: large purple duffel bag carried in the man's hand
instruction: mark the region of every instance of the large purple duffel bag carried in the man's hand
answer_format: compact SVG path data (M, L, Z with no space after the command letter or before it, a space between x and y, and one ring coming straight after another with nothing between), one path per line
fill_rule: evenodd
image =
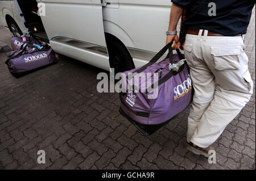
M166 59L157 63L168 49ZM126 71L120 82L123 84L119 111L146 135L174 119L193 98L187 62L179 50L177 54L172 53L171 44L160 50L148 64Z

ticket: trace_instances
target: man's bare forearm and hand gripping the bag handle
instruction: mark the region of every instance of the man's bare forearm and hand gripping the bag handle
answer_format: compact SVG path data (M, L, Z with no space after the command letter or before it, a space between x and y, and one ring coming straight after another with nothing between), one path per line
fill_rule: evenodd
M175 5L172 3L171 13L170 13L170 24L168 31L176 31L177 23L179 22L180 16L183 13L183 7ZM171 43L172 49L179 49L180 48L180 40L177 35L167 35L166 44Z

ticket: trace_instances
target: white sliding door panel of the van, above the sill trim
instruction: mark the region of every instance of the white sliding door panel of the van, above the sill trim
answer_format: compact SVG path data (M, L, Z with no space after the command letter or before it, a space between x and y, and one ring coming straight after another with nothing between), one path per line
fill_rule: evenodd
M37 0L49 40L67 37L106 47L101 0ZM43 6L42 6L43 7Z

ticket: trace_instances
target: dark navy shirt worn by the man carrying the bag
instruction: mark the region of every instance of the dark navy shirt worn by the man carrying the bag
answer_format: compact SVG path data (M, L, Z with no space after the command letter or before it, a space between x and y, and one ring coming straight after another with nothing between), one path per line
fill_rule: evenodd
M188 29L204 29L224 36L245 34L255 0L172 0L186 9ZM210 2L216 4L216 16L209 16Z

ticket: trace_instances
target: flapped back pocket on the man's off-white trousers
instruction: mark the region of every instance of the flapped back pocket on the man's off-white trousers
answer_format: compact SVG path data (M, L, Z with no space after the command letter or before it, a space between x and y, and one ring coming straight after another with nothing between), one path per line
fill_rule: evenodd
M214 59L216 70L239 70L241 69L239 55L241 46L234 47L210 47L210 54Z

